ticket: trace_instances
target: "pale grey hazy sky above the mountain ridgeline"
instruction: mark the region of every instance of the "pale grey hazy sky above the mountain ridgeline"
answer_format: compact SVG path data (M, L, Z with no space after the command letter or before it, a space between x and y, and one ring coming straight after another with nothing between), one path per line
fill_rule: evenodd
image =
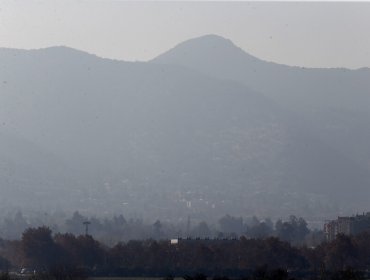
M370 2L0 0L0 47L66 45L103 57L148 60L210 33L264 60L370 67Z

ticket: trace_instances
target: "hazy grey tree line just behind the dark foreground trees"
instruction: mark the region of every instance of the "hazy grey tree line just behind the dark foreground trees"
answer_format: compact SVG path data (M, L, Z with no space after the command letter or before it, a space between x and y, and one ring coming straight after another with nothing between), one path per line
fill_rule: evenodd
M96 240L108 246L129 240L154 239L163 240L174 237L192 238L266 238L277 237L293 245L316 246L323 241L321 231L309 230L303 218L290 216L289 219L273 222L269 218L242 218L225 215L217 222L205 222L185 219L177 224L154 220L144 222L142 219L125 218L123 215L99 219L86 217L79 212L72 216L64 213L53 215L38 214L25 217L21 212L9 215L0 222L0 236L4 239L20 239L22 233L30 227L48 226L53 232L85 233L84 222L90 221L89 233Z

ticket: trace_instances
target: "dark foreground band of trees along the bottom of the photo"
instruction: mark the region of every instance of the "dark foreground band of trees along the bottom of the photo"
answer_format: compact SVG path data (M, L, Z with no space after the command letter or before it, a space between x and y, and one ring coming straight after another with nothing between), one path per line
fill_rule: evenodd
M20 240L2 240L1 255L2 270L28 267L59 275L84 271L86 275L95 276L203 273L253 277L259 271L267 277L269 273L280 271L296 278L321 275L323 279L325 275L337 277L339 272L358 276L358 271L370 269L370 233L339 235L333 242L324 242L315 248L294 247L275 237L243 236L182 239L175 245L168 240L132 240L107 247L90 235L53 235L49 228L38 227L28 228Z

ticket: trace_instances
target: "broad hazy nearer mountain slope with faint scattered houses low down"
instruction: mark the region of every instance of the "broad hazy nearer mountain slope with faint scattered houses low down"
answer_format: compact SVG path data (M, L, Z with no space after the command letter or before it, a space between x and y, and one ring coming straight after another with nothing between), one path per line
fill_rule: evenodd
M192 51L208 49L210 59L219 49L244 55L218 37L200 41ZM97 215L330 216L368 204L367 169L253 84L180 63L114 61L66 47L0 49L0 61L0 133L22 139L10 156L24 184L10 201L23 186L37 189L32 173L48 191L44 199ZM34 152L15 156L22 149ZM20 167L39 155L34 171ZM0 159L3 170L9 164ZM20 207L40 209L37 201L29 192Z

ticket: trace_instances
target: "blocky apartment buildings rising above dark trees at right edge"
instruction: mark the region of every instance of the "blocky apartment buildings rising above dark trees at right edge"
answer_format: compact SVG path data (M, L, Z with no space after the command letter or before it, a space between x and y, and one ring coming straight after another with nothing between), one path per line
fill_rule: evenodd
M370 231L370 212L350 217L338 217L324 225L327 241L334 240L338 234L356 235L364 231Z

